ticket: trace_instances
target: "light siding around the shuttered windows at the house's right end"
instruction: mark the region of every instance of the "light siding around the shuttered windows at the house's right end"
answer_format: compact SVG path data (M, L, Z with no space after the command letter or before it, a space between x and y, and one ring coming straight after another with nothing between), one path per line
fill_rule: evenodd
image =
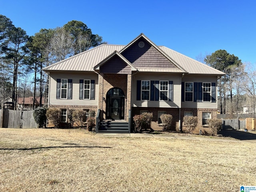
M216 102L182 102L182 108L209 108L216 109L218 108L218 83L216 76L196 76L186 74L182 78L182 82L206 82L206 83L215 83L216 84Z

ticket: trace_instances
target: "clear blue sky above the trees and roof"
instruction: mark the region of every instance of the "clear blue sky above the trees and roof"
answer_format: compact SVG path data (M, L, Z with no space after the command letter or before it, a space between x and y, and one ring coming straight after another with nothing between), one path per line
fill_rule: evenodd
M109 44L144 33L194 59L224 49L254 66L255 9L255 0L0 0L0 14L28 35L79 20Z

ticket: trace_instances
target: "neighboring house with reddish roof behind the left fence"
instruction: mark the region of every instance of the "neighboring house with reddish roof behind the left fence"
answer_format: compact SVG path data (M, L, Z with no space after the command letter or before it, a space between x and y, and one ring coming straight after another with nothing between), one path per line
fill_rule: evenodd
M33 100L34 97L25 97L25 98L18 98L18 109L19 110L34 110L33 107ZM23 107L24 104L24 107ZM44 98L42 98L42 105L44 105ZM40 106L40 97L35 98L35 108Z

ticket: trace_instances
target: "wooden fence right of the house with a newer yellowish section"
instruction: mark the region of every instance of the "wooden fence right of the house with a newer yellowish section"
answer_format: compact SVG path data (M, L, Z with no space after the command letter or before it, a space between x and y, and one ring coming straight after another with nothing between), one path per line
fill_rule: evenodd
M256 119L255 118L246 118L245 120L240 119L222 119L222 128L224 129L247 129L255 130L256 128Z

